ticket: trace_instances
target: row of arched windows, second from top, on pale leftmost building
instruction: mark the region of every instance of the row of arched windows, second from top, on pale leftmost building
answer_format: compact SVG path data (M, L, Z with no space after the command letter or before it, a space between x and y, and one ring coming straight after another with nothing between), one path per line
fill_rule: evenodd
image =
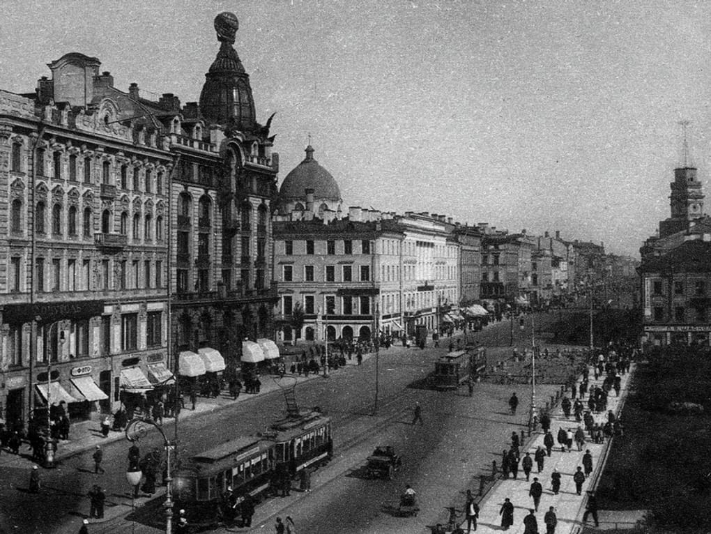
M82 212L82 236L92 237L93 235L93 211L92 208L84 208ZM64 208L61 204L52 206L52 214L50 220L50 233L54 237L66 235L75 237L79 235L79 210L76 206L70 205L67 210L66 220L64 218ZM109 210L102 212L101 231L102 233L112 233L114 230L112 213ZM156 217L155 223L153 216L148 214L141 217L138 213L134 214L132 219L132 237L134 240L141 239L141 227L143 228L143 240L152 241L154 231L156 240L163 240L163 217ZM38 234L48 233L47 228L47 208L43 201L36 204L35 207L35 230ZM10 208L10 232L17 235L23 233L23 202L16 198L12 201ZM128 235L129 233L129 214L122 212L119 218L119 234Z

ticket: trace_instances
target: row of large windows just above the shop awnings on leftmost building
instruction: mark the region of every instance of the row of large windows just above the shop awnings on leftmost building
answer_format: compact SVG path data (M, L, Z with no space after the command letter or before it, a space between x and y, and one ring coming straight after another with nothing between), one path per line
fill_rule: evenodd
M136 351L139 348L159 347L163 343L163 312L149 311L146 314L145 343L139 343L139 316L138 314L122 314L120 346L113 346L112 317L102 316L99 329L99 343L101 355L109 356L118 352ZM90 347L93 333L89 319L77 319L63 329L64 343L60 343L58 329L48 329L47 326L38 326L37 330L37 362L53 363L70 361L75 358L88 358L92 356ZM30 331L22 324L10 324L8 335L7 365L28 365L28 350Z

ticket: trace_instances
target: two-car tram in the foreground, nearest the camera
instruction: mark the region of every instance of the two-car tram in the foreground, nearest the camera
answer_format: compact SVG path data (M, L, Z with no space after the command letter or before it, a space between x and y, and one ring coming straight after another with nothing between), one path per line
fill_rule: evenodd
M309 466L325 464L333 456L331 419L321 412L301 412L272 424L267 432L238 437L192 456L175 474L177 508L195 523L219 516L223 495L232 488L235 514L250 494L259 501L284 474L293 479Z

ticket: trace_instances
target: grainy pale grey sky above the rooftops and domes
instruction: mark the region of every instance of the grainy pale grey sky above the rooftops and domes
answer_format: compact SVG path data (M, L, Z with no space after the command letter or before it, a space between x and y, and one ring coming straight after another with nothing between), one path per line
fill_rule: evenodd
M32 91L77 51L119 89L182 102L199 99L218 51L213 18L234 12L257 118L277 112L280 180L311 133L346 205L561 230L636 255L669 214L680 119L709 191L708 1L2 4L1 88Z

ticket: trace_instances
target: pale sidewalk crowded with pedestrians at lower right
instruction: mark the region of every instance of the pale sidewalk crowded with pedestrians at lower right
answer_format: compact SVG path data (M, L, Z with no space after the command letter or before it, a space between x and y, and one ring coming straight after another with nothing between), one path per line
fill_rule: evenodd
M621 404L624 402L624 397L627 393L627 387L631 375L634 373L634 364L632 365L630 373L622 376L622 388L620 391L620 396L616 397L614 395L614 390L611 390L612 395L608 397L607 410L612 410L616 415L619 416L619 410ZM594 388L595 385L600 385L602 387L604 377L599 377L598 380L594 380L594 375L591 372L589 375L589 388ZM579 381L576 383L576 386ZM570 398L570 392L567 393ZM587 406L586 406L587 409ZM538 506L538 512L535 513L536 519L538 520L538 530L539 532L545 532L545 523L543 523L543 516L548 511L550 506L555 508L555 513L557 516L557 527L555 529L556 534L568 534L577 532L581 526L582 513L584 512L584 501L586 496L586 491L593 488L589 487L589 481L597 480L599 471L602 471L604 466L600 465L600 462L604 458L604 452L609 444L606 442L604 444L594 444L592 442L586 442L583 446L581 452L577 451L577 447L573 444L570 452L561 452L560 445L557 444L557 432L560 427L564 429L572 429L574 432L578 427L578 423L575 421L574 416L571 414L569 419L566 419L563 415L562 409L556 407L552 410L551 414L551 424L550 430L555 439L555 447L552 450L551 456L547 456L545 459L545 465L543 471L538 474L535 462L533 464L533 471L530 474L530 481L527 482L523 470L519 466L518 479L501 479L495 486L489 491L483 500L479 503L481 511L479 513L478 528L476 532L478 534L493 533L501 529L501 516L499 516L499 510L504 502L504 498L509 498L514 506L513 513L513 525L510 526L508 532L511 534L521 534L523 533L523 518L528 515L529 510L533 509L533 498L528 495L530 489L530 484L533 482L533 478L537 477L540 484L543 486L543 495L540 499L540 505ZM593 414L594 420L597 423L606 422L606 412L601 412L599 414ZM580 423L582 426L582 423ZM586 433L587 434L587 433ZM586 435L587 437L587 435ZM508 444L506 444L508 448ZM531 456L535 450L543 446L543 434L538 431L533 434L528 442L523 444L521 447L521 456L523 457L526 452L530 452ZM582 495L579 496L575 493L575 484L573 482L572 475L577 471L578 466L582 466L582 456L586 449L589 449L592 454L592 474L588 477L587 481L584 482L582 486ZM497 458L497 463L500 463L501 459ZM560 492L555 495L551 489L551 479L550 474L553 469L557 469L562 475L562 480L560 484ZM460 505L461 506L461 505ZM600 513L602 516L602 513ZM601 518L602 520L602 518ZM594 525L592 518L589 518L587 525ZM466 520L461 525L466 531Z

